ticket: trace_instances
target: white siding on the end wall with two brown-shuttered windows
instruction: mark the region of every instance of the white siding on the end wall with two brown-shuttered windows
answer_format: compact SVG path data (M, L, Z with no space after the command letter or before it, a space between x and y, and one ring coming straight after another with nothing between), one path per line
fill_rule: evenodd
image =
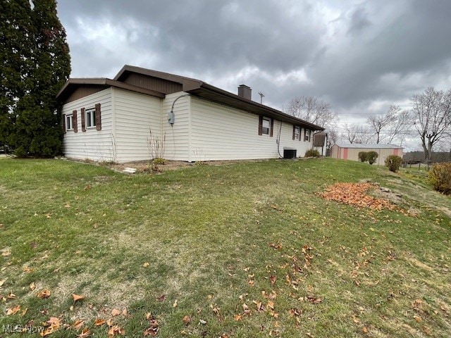
M101 130L81 130L81 108L92 108L101 104ZM85 96L63 106L64 115L77 111L78 132L66 132L63 139L63 154L68 158L114 161L112 138L111 88Z

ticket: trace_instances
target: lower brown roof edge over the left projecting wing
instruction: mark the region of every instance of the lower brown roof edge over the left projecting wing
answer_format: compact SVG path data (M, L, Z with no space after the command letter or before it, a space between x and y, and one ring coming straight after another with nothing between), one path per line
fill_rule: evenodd
M86 85L99 87L117 87L141 94L148 94L161 98L165 97L165 95L160 92L133 86L131 84L126 84L124 82L107 79L106 77L81 77L81 78L74 77L66 81L63 87L59 90L58 94L56 94L56 99L58 101L66 101L66 99L68 99L70 94L75 92L76 89L85 87Z

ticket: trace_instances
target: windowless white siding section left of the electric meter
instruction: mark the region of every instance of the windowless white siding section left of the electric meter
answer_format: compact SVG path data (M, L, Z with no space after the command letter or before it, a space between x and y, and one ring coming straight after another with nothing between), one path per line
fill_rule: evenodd
M113 88L113 91L116 161L123 163L150 159L150 132L153 139L161 137L161 99L118 88Z

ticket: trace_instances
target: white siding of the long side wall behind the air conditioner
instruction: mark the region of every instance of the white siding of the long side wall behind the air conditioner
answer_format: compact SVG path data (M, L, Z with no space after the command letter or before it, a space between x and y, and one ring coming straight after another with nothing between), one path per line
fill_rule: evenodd
M259 115L191 96L192 161L278 158L283 147L304 156L310 142L292 139L293 126L274 120L273 137L259 135ZM177 122L176 122L177 123ZM280 147L276 140L280 132Z

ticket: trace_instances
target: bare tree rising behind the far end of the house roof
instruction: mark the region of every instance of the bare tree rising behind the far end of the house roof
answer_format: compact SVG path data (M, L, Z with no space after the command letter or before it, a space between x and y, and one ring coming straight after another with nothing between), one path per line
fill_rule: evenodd
M288 102L285 113L325 129L333 127L336 120L330 104L314 96L296 96Z

